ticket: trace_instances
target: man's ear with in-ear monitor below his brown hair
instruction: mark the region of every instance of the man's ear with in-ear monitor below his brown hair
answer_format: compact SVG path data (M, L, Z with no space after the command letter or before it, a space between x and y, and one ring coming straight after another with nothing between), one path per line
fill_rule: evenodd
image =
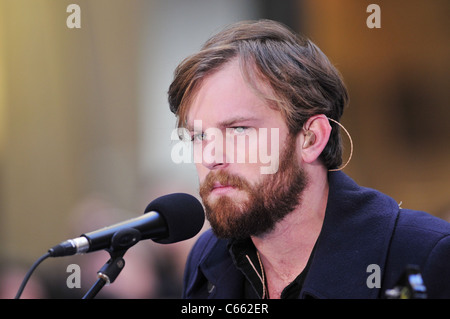
M299 134L301 156L304 162L312 163L317 160L328 143L331 125L323 115L314 115L306 121Z

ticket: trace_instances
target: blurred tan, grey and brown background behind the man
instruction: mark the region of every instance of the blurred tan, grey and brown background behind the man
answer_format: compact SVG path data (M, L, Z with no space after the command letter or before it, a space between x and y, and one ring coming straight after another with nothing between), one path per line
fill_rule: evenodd
M72 3L81 28L66 25ZM366 24L371 3L379 29ZM0 0L0 298L55 244L158 196L197 195L194 165L170 158L166 92L184 57L240 20L289 25L341 71L347 174L450 219L449 13L448 0ZM99 297L178 298L194 240L139 243ZM80 298L108 258L48 259L23 297ZM66 285L72 263L81 288Z

